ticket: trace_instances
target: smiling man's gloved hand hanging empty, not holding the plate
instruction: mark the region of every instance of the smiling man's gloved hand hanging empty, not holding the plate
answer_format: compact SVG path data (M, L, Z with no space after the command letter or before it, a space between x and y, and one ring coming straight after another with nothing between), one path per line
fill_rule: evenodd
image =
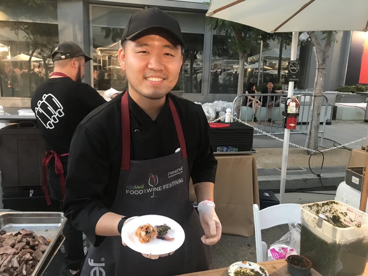
M222 233L222 226L215 212L215 203L210 200L204 200L198 204L199 220L205 236L201 237L202 243L207 245L216 244Z

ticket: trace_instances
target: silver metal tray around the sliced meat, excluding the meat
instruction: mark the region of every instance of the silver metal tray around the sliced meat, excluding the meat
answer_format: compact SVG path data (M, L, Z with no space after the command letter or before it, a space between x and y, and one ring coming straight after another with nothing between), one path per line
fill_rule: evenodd
M5 212L0 213L0 231L17 232L24 228L35 232L38 236L41 235L46 239L51 239L50 245L32 275L30 275L36 276L39 275L38 272L48 255L54 254L54 244L57 243L66 221L67 219L60 212Z

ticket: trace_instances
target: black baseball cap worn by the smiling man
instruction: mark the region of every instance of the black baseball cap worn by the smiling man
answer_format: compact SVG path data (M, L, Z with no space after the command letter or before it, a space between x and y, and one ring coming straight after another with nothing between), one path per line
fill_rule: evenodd
M149 29L162 29L173 37L182 47L184 46L183 37L179 22L173 17L164 13L159 8L146 8L132 14L125 26L121 45L125 40L133 40Z

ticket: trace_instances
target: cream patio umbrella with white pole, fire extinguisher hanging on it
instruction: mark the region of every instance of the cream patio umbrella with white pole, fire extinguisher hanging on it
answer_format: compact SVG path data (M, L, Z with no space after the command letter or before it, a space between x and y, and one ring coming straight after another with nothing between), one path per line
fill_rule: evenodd
M269 0L211 0L206 15L269 33L293 32L290 60L297 57L298 32L368 31L367 0L278 0L275 5ZM293 88L294 82L289 82L289 98L293 96ZM280 204L284 203L289 136L290 130L285 129Z

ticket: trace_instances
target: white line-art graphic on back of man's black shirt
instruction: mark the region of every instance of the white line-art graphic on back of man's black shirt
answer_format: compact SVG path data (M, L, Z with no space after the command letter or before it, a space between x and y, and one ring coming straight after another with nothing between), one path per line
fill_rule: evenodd
M59 122L59 117L64 116L63 106L52 94L43 95L42 100L38 101L35 111L37 118L49 129L54 128L54 124Z

